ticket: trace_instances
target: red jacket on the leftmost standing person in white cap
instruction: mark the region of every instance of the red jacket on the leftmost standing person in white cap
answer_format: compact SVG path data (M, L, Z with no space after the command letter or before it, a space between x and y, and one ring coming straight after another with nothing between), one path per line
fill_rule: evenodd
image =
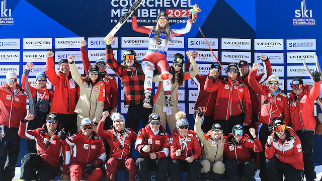
M0 86L0 125L19 128L20 121L27 114L26 99L24 90L18 83L16 94L8 83Z

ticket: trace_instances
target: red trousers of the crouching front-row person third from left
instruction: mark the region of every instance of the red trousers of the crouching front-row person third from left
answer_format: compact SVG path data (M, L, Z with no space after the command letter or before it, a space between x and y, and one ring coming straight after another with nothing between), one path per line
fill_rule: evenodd
M114 181L115 171L117 169L125 169L129 172L129 181L135 181L136 167L133 158L129 158L126 161L124 159L110 158L106 162L106 167L107 180Z

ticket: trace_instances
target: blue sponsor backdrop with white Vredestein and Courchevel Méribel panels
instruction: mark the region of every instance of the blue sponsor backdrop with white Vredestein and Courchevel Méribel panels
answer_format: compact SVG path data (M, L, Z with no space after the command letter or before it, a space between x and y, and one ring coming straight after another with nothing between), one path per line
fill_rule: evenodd
M6 82L5 74L8 70L16 71L20 78L27 62L35 64L30 74L30 81L34 84L36 73L44 70L47 50L55 52L56 64L59 59L73 54L78 71L83 74L79 41L87 40L92 63L97 57L105 56L106 44L103 37L134 2L99 0L92 3L81 0L70 4L67 1L0 1L1 85ZM166 11L171 28L183 28L188 20L188 10L195 3L201 9L197 23L224 68L230 62L236 63L242 59L247 60L251 67L254 62L261 62L259 57L264 53L271 60L273 73L280 76L280 87L284 92L291 92L290 82L296 76L306 79L305 83L312 83L302 61L311 70L315 69L315 55L322 61L322 14L319 13L322 9L321 1L146 0L138 8L138 24L154 26L157 14ZM148 47L147 35L133 31L131 22L129 18L115 35L117 38L112 46L118 61L121 61L123 51L128 48L134 49L137 59L141 61ZM175 53L184 54L187 50L199 53L196 61L200 74L207 74L209 64L215 58L195 23L189 33L176 37L169 43L170 64ZM55 69L58 71L58 65ZM107 71L116 76L109 67ZM261 71L262 67L259 69ZM118 84L120 85L119 79ZM153 85L153 88L157 85L158 83ZM51 87L51 84L48 86ZM197 93L197 86L191 79L178 91L179 109L189 114L191 126ZM125 114L127 106L124 105L121 86L119 95L118 111ZM314 139L321 141L322 138L317 135ZM315 144L314 149L320 147ZM314 153L315 162L322 164L321 156Z

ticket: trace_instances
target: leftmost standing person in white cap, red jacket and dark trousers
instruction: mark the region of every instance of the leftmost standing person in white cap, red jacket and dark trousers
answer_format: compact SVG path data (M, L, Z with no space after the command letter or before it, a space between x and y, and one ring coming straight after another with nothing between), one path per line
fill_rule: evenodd
M27 113L26 95L17 82L17 74L8 71L6 79L7 83L0 86L0 178L5 181L15 176L20 151L18 128Z

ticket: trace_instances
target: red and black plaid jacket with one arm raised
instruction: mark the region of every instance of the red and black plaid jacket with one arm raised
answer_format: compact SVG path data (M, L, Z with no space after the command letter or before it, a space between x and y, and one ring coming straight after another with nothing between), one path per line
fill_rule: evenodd
M144 73L135 68L128 68L115 60L112 46L108 45L105 50L107 64L120 77L124 90L125 105L137 105L144 100ZM134 62L136 64L138 62ZM141 66L141 65L139 65ZM134 65L133 65L134 67Z

